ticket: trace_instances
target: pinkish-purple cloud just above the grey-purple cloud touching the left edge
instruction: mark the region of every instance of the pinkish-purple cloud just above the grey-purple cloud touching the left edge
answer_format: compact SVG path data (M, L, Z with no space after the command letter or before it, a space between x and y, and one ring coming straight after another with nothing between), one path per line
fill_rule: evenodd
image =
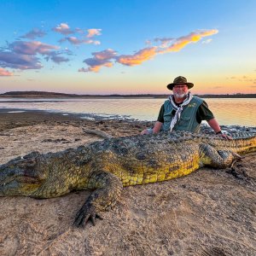
M15 41L9 44L9 49L16 54L21 55L49 55L53 49L59 49L59 46L44 44L39 41Z

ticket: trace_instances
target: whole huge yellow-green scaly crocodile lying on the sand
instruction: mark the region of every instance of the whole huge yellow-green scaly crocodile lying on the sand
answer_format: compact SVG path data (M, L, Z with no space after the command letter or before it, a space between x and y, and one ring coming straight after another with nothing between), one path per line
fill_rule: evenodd
M234 133L225 140L187 131L113 137L57 153L32 152L0 166L0 196L52 198L94 189L73 224L96 224L125 186L183 177L202 166L227 168L240 154L256 151L256 136Z

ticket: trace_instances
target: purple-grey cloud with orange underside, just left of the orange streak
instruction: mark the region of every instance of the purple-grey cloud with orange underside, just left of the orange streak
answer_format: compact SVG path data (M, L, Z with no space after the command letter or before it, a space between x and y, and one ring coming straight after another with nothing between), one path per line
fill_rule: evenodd
M89 67L79 68L79 72L98 72L102 67L113 67L113 60L117 52L113 49L105 49L92 53L93 58L84 60Z

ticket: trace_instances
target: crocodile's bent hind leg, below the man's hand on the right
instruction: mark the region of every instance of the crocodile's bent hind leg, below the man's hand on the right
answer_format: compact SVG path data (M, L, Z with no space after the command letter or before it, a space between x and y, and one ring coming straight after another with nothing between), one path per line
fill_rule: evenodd
M202 166L212 166L214 168L227 168L233 162L240 160L241 156L229 150L216 150L212 146L200 144L200 159Z

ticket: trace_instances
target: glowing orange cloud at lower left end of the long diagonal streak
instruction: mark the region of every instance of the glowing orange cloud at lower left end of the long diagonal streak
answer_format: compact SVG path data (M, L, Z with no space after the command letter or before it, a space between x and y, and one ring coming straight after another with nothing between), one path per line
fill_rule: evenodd
M152 59L154 55L157 54L157 49L158 48L154 46L154 47L140 49L134 55L119 55L116 58L116 61L126 66L140 65L144 61L148 61Z

